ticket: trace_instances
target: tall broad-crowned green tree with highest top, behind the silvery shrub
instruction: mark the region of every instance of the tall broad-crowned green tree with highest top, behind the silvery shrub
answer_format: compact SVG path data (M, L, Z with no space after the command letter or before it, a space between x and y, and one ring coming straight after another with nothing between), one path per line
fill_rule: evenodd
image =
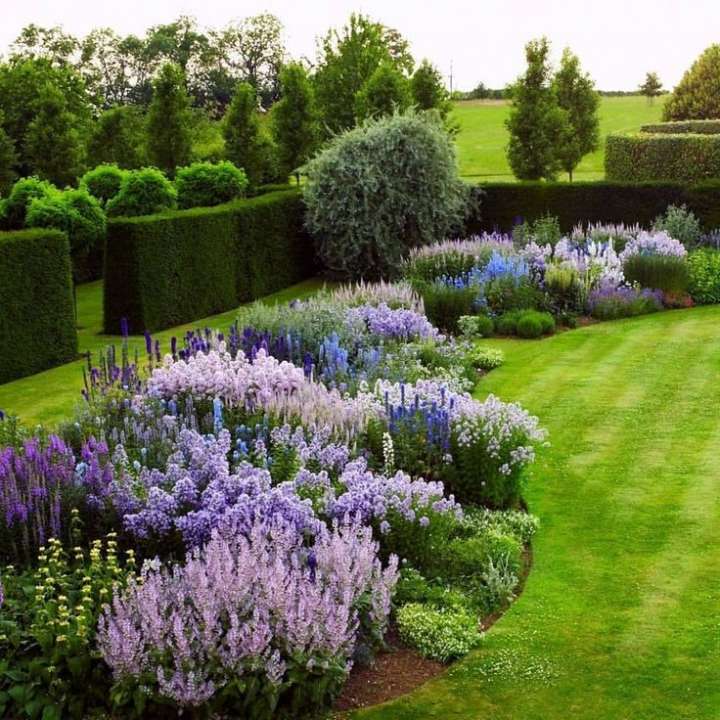
M412 71L408 43L397 31L354 13L341 30L328 31L314 79L323 126L330 133L355 125L355 97L383 63Z

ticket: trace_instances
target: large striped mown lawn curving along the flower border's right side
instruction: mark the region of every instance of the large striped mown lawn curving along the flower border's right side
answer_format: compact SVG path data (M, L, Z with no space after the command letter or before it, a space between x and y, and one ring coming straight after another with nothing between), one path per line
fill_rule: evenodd
M363 720L720 717L720 308L487 341L477 395L550 431L520 599L480 649Z

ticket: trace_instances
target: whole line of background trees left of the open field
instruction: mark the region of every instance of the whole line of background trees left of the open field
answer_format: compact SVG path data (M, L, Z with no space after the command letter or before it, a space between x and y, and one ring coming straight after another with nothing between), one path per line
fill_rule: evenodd
M229 159L251 183L286 181L332 135L411 106L446 118L442 76L363 15L300 62L267 13L220 30L183 16L142 37L30 25L0 64L0 192L28 175L74 185L100 163L172 176Z

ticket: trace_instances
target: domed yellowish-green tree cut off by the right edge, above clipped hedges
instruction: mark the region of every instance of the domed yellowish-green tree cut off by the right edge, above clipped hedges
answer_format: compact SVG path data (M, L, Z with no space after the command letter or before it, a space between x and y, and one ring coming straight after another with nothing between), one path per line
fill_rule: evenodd
M720 45L711 45L692 64L663 108L665 120L720 118Z

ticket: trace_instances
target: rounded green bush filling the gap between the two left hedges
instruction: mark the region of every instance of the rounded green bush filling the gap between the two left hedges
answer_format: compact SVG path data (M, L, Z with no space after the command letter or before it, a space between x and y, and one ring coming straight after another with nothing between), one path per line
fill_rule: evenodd
M76 282L100 277L105 213L87 190L58 190L46 197L35 198L28 208L26 225L55 228L67 234Z

